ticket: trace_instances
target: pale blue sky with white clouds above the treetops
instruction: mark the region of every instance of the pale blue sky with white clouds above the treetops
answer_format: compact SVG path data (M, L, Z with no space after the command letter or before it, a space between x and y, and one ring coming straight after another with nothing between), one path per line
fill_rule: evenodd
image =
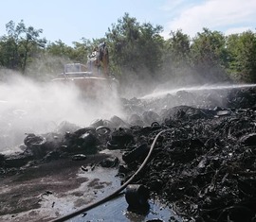
M41 38L50 43L100 39L108 28L129 13L141 25L163 26L166 39L181 29L194 37L203 27L229 35L256 28L256 0L9 0L1 1L0 36L6 25L21 20L43 29Z

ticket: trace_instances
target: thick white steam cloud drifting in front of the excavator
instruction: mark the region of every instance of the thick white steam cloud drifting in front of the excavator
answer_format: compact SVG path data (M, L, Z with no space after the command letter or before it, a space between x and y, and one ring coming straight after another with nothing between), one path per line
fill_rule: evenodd
M95 119L121 115L119 100L108 96L84 101L75 86L10 76L0 82L0 152L17 149L25 133L50 132L64 121L86 127Z

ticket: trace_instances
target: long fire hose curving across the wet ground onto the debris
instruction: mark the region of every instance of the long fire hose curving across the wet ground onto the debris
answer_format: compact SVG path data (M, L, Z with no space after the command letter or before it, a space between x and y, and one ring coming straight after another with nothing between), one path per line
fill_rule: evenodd
M150 158L150 156L151 156L151 154L152 154L152 152L153 152L153 149L154 149L154 147L155 147L155 143L156 143L158 137L160 136L160 134L162 134L163 132L168 131L168 130L170 130L170 129L164 129L164 130L161 130L160 132L157 133L157 135L155 136L155 139L154 139L154 141L153 141L153 143L152 143L152 145L151 145L151 147L150 147L149 153L148 153L147 157L145 158L144 162L142 162L142 164L140 165L140 167L137 169L137 172L136 172L130 179L128 179L125 183L123 183L123 184L119 187L119 189L118 189L117 191L115 191L114 193L110 194L109 196L105 196L104 198L102 198L102 199L96 201L95 203L92 203L92 204L90 204L90 205L88 205L88 206L82 208L82 209L79 210L79 211L76 211L76 212L74 212L74 213L66 214L66 215L64 215L64 216L62 216L62 217L60 217L60 218L56 218L56 219L52 220L52 222L62 222L62 221L68 220L68 219L70 219L70 218L72 218L72 217L74 217L74 216L76 216L76 215L78 215L78 214L81 214L81 213L84 213L84 212L86 212L86 211L88 211L88 210L91 210L91 209L93 209L93 208L95 208L95 207L101 205L102 203L104 203L104 202L106 202L106 201L108 201L108 200L110 200L110 199L112 199L112 198L114 198L114 197L116 197L116 196L119 196L119 193L120 193L122 190L124 190L124 189L137 177L137 175L139 174L139 172L143 169L143 167L144 167L144 166L146 165L146 163L148 162L148 160L149 160L149 158Z

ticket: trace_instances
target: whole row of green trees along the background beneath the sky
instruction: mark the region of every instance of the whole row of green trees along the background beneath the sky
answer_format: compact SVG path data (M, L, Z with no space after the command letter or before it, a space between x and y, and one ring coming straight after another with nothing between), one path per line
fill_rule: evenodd
M128 13L101 39L83 38L73 46L61 40L48 42L40 37L42 29L26 26L23 20L17 25L10 21L6 30L7 34L0 37L0 68L29 77L46 79L61 72L66 62L86 63L92 49L105 42L110 71L120 81L256 82L256 34L251 30L225 36L203 28L191 38L178 29L165 40L160 35L162 26L139 24Z

